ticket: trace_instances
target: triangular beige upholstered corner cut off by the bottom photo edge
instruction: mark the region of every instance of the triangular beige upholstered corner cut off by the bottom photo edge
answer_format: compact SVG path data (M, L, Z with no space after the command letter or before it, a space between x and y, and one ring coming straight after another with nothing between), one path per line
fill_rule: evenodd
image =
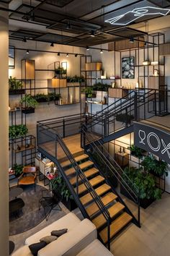
M95 239L76 256L113 256L104 245Z

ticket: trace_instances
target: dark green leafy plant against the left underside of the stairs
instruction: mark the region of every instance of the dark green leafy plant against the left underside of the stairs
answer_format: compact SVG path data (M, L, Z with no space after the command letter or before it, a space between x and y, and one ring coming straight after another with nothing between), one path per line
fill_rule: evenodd
M71 195L71 192L62 176L57 176L51 181L51 184L53 189L57 189L58 192L61 193L63 199L66 199L66 201L68 201L68 199L73 199L73 195Z

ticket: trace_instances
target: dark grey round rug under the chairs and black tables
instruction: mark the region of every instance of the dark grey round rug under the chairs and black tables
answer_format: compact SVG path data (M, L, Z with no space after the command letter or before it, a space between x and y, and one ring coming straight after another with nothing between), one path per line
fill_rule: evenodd
M22 188L24 191L17 198L22 198L24 207L19 210L18 216L10 216L9 218L10 236L32 229L45 219L43 208L39 210L39 200L45 187L36 185L36 191L34 186L23 186ZM46 195L50 195L48 190L45 192ZM9 198L9 200L12 199L14 198Z

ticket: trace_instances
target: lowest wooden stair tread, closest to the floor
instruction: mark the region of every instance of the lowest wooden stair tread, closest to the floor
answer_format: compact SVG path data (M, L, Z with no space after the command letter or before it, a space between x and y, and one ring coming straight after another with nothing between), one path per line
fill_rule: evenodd
M128 213L122 213L115 221L112 221L110 225L110 239L115 236L122 228L124 228L130 221L132 221L132 216ZM107 227L99 232L100 237L104 243L107 243Z

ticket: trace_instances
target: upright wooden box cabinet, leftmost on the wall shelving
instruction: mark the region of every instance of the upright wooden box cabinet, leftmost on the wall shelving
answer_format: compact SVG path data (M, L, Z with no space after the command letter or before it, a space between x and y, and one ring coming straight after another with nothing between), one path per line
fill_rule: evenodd
M22 79L35 79L35 60L22 59L21 61Z

